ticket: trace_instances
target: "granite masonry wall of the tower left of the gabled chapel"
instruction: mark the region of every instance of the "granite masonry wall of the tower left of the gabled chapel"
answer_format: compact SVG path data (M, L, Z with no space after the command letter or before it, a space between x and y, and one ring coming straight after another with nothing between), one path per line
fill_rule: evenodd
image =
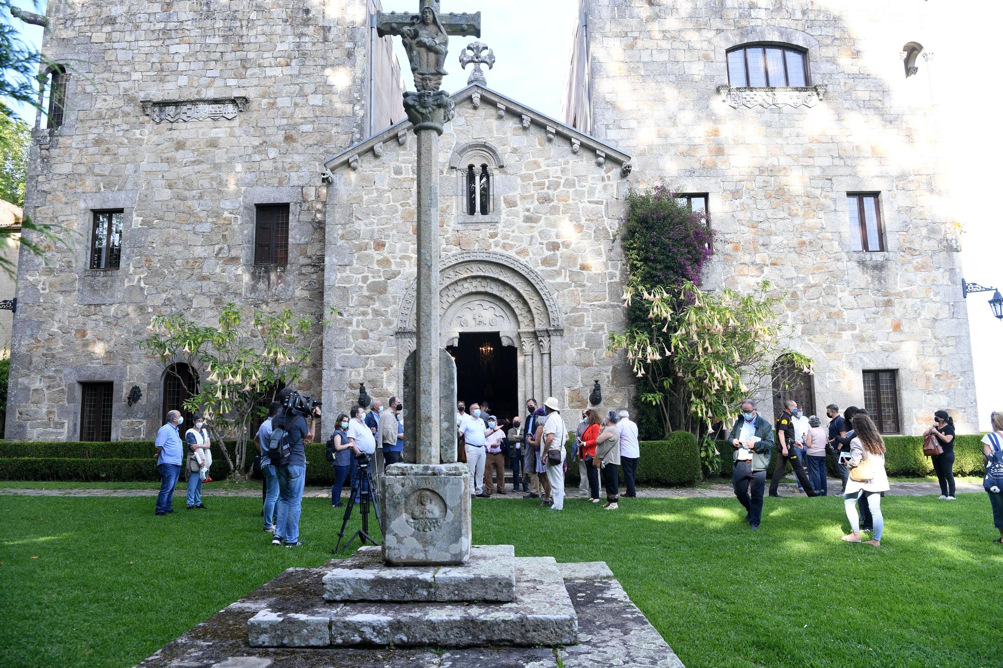
M109 380L112 438L151 437L160 367L136 341L155 314L213 324L236 302L323 317L320 165L367 131L366 6L48 3L43 51L68 65L67 111L36 130L26 210L64 243L21 255L7 437L79 437L79 383ZM290 205L289 263L255 266L254 206L274 203ZM95 209L124 211L117 270L88 270ZM320 341L318 325L313 391Z

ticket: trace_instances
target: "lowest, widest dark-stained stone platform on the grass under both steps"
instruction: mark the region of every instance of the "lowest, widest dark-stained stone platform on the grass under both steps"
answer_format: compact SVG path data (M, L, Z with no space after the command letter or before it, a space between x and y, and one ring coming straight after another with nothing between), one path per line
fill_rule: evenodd
M549 560L553 567L553 561ZM164 645L142 668L680 668L672 648L602 562L559 564L578 617L578 644L559 647L250 647L248 622L280 602L317 601L323 577L343 562L290 569ZM517 592L518 599L518 592ZM459 604L461 605L461 604Z

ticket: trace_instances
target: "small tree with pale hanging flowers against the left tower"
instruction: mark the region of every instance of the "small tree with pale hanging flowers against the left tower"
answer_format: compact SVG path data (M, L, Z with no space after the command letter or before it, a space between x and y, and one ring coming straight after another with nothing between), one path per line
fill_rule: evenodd
M185 314L156 316L152 332L140 344L159 359L168 373L180 362L200 369L198 387L185 408L206 416L211 437L237 440L234 458L223 448L231 472L243 474L250 459L251 420L261 413L261 401L275 389L294 384L310 365L306 345L314 321L295 318L284 309L278 314L255 310L246 320L236 304L227 304L218 327L207 327ZM180 374L176 374L184 382Z

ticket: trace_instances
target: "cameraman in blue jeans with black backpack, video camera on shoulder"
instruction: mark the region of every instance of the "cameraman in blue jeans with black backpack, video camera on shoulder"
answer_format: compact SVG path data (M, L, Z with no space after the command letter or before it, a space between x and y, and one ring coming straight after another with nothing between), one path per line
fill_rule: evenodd
M306 445L313 442L320 407L314 406L311 410L309 426L303 414L290 407L284 409L284 415L289 462L275 466L275 474L279 478L279 520L275 525L272 545L296 548L303 545L300 542L300 511L307 477Z

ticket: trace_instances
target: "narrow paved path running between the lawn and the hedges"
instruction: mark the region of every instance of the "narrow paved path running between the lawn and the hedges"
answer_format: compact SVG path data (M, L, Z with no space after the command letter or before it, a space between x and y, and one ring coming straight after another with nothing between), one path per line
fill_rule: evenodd
M54 483L58 484L58 483ZM834 486L833 486L834 484ZM983 491L982 482L968 482L957 480L958 493L970 493ZM829 480L829 493L835 493L839 489L839 479ZM803 496L794 490L793 482L781 482L779 487L780 495ZM52 488L29 488L29 487L0 487L0 496L155 496L156 488L147 489L61 489ZM577 496L578 488L569 486L568 496ZM621 493L623 489L621 488ZM178 493L178 490L175 491ZM181 491L184 495L184 490ZM345 490L345 495L348 491ZM892 482L892 490L888 492L892 496L927 496L940 495L940 487L936 482ZM307 498L322 498L331 494L330 487L310 487L304 491ZM259 489L214 489L212 485L203 487L203 496L260 496ZM638 488L637 495L640 498L724 498L732 495L731 484L725 482L713 482L699 487L648 487ZM505 494L493 494L491 498L516 498L522 499L523 492L513 492L511 489Z

